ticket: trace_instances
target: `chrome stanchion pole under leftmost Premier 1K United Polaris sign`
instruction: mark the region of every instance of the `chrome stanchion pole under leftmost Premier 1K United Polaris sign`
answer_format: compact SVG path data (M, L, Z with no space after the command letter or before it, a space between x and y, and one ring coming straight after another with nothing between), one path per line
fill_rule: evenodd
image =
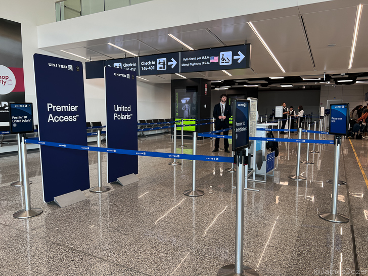
M25 209L19 210L13 214L15 218L29 218L37 216L43 212L41 208L31 208L31 198L29 195L28 183L28 163L27 163L27 147L24 142L24 137L19 137L21 140L21 159L22 159L22 181L24 183L24 206Z

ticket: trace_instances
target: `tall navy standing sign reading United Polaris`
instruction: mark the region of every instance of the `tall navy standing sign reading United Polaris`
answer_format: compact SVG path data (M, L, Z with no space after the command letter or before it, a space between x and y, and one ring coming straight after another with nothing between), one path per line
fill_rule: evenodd
M136 74L105 67L107 147L137 150ZM138 157L107 153L107 181L138 173Z

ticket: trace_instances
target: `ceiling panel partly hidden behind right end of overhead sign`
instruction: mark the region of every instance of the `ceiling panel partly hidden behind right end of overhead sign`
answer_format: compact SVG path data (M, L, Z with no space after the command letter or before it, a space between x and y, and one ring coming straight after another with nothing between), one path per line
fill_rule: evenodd
M226 45L250 43L252 45L251 68L257 74L282 73L248 23L211 28L210 30Z

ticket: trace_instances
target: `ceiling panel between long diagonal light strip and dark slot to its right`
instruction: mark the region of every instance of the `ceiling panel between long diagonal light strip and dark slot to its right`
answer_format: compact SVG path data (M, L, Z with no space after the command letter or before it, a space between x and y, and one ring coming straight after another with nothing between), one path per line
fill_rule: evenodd
M286 72L314 70L299 16L252 23Z

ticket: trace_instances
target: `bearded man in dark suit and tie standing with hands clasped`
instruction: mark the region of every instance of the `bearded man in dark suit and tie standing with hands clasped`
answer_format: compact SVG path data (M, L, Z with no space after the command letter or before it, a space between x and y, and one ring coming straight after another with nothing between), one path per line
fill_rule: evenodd
M220 103L215 105L213 109L213 117L215 120L215 130L225 129L229 127L228 119L232 116L232 108L226 103L227 95L221 94ZM219 133L217 133L219 134ZM228 130L223 131L223 135L228 135ZM223 140L225 152L230 152L228 150L228 139ZM215 149L212 152L218 152L218 147L220 145L220 139L216 138Z

